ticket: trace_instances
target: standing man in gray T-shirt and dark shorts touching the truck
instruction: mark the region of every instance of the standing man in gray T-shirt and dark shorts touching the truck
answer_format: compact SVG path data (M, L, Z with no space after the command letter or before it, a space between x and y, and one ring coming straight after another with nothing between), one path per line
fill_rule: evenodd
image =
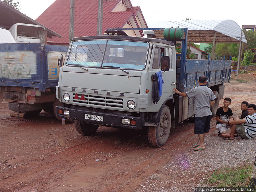
M195 87L185 93L179 92L179 90L174 88L174 92L183 97L195 98L197 107L195 114L195 134L198 134L200 144L193 146L194 151L205 149L205 133L209 133L210 131L210 122L212 116L210 107L214 104L214 100L216 99L212 90L205 86L207 83L206 76L200 76L198 82L198 87Z

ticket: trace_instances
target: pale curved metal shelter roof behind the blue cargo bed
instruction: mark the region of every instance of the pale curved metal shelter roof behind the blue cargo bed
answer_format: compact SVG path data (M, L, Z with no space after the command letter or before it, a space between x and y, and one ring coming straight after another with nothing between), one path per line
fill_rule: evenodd
M154 21L147 22L148 27L188 28L188 41L193 43L212 43L216 33L216 43L239 43L241 28L233 20L180 20L180 21ZM163 38L162 30L154 30L156 38ZM242 42L247 43L242 32Z

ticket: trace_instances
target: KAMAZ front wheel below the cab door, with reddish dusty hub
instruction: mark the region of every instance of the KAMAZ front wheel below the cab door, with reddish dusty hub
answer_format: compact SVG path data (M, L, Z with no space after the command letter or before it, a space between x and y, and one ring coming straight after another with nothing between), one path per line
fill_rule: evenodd
M157 127L148 127L148 142L151 146L163 146L169 137L171 130L171 113L167 105L164 105Z

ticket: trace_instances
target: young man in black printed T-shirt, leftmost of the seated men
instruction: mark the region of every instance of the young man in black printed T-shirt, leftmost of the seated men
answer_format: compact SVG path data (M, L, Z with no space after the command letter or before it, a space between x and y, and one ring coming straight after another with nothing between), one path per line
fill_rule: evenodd
M228 107L231 103L230 98L225 98L223 102L223 107L220 107L216 111L216 129L219 131L219 134L227 133L229 126L229 119L231 119L233 113L232 110Z

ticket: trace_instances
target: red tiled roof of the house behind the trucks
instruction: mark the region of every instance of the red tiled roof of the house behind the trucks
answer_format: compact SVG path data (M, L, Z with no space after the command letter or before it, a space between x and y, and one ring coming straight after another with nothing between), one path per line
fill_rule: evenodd
M118 1L103 1L102 34L107 28L122 28L128 19L136 14L135 10L127 9L123 12L110 12ZM125 6L125 5L123 5ZM44 26L60 34L62 38L48 38L57 44L69 43L69 7L70 1L56 0L37 19ZM136 12L136 13L135 13ZM98 0L75 0L75 37L93 36L97 34Z

